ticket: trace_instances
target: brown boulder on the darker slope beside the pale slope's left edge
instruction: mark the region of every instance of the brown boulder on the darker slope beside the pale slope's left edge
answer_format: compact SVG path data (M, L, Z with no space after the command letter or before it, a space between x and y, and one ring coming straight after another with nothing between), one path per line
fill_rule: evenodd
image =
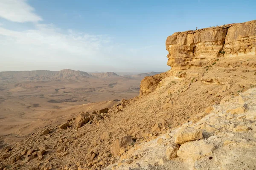
M133 143L134 141L131 139L131 136L123 136L119 139L116 139L116 141L113 143L113 146L111 147L111 153L114 156L118 156L121 147L127 147Z

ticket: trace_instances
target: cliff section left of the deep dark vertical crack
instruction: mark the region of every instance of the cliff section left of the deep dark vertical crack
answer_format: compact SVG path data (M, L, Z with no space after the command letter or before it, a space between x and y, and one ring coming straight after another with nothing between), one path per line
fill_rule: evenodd
M166 40L167 65L178 68L204 65L204 62L219 56L226 34L227 28L224 27L174 33Z

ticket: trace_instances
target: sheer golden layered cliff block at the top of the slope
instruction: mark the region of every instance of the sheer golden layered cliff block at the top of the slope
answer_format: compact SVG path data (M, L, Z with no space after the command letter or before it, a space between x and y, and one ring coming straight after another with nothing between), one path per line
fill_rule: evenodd
M217 57L255 55L255 46L256 20L177 32L166 40L166 50L169 52L167 65L182 70L204 66Z

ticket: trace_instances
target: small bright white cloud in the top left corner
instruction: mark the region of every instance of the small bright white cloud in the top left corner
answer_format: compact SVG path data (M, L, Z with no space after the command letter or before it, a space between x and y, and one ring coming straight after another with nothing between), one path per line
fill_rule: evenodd
M26 0L0 0L0 17L18 23L43 20Z

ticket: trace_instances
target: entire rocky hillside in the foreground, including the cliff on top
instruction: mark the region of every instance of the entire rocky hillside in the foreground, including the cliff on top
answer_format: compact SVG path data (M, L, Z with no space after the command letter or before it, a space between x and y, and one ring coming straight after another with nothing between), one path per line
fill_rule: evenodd
M236 26L232 42L247 44L246 55L233 47L222 52ZM250 31L239 33L240 26ZM166 40L172 69L143 79L140 96L46 126L6 146L0 164L6 170L255 168L253 26L175 33Z

